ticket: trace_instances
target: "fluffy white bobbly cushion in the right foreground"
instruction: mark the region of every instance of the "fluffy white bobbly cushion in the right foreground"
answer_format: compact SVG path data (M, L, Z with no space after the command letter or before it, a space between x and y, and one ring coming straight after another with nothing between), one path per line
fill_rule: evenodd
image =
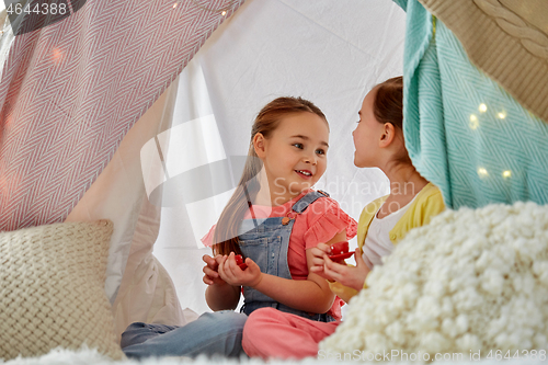
M320 343L326 354L546 360L548 206L447 210L410 231L366 283Z

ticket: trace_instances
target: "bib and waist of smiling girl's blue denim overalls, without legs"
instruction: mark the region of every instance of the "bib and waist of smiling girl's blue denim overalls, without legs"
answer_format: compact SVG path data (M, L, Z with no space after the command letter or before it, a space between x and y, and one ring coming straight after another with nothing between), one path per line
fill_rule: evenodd
M265 219L246 219L239 230L240 250L246 258L253 260L261 272L283 278L292 280L287 264L287 250L295 216L305 212L316 199L328 196L327 193L310 192L296 202L287 217ZM285 223L285 225L284 225ZM326 313L310 313L294 309L275 301L271 297L251 287L243 287L244 305L241 309L246 315L262 307L274 307L278 310L294 313L316 321L331 322L334 319Z

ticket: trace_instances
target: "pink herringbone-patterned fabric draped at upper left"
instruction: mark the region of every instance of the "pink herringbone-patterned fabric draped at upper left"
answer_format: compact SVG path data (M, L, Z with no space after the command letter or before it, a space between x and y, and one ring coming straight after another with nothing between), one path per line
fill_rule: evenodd
M221 13L195 1L89 1L16 35L0 83L0 174L9 192L0 227L66 218L129 127L239 4Z

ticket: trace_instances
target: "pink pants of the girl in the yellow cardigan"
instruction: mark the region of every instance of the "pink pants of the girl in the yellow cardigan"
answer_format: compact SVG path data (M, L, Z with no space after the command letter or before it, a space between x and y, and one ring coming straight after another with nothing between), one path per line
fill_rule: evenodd
M251 357L316 357L318 343L333 333L339 323L318 322L274 308L261 308L246 321L242 346Z

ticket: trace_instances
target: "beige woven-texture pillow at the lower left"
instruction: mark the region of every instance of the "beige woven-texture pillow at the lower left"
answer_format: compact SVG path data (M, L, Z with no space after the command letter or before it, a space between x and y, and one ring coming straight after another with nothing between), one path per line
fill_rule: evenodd
M0 358L82 344L125 357L104 293L112 231L99 220L0 233Z

